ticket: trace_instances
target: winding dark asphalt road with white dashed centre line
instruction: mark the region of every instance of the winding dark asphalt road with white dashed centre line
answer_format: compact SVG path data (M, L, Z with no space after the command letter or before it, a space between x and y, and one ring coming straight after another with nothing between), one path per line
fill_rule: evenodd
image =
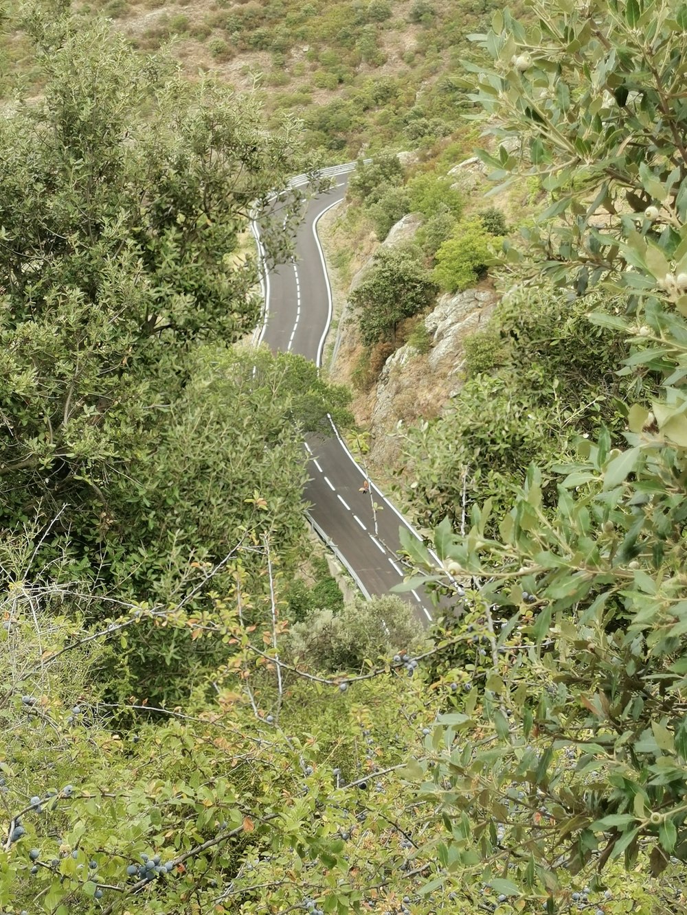
M298 181L298 179L295 179ZM346 174L333 176L333 187L310 201L300 227L296 258L280 264L265 282L265 322L258 339L273 351L297 352L317 365L332 319L332 294L317 222L344 199ZM417 537L408 522L370 480L370 494L360 491L365 473L334 430L330 439L311 438L311 480L305 498L315 530L348 568L365 597L387 594L403 581L398 556L399 525ZM373 510L373 501L379 508ZM423 589L402 593L424 625L431 602Z

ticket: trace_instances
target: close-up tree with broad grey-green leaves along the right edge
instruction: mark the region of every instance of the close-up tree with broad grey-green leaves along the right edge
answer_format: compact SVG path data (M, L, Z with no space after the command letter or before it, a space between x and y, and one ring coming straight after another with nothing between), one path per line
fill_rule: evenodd
M453 855L472 845L505 899L552 913L607 892L615 912L617 862L668 887L687 860L687 7L532 8L535 23L499 12L481 39L494 64L475 65L474 98L508 141L485 160L551 195L522 254L529 273L622 297L591 320L627 340L625 441L581 440L553 512L530 467L496 535L488 503L464 537L448 522L435 533L438 577L478 586L463 624L485 651L418 780L447 805ZM636 899L684 909L682 890Z

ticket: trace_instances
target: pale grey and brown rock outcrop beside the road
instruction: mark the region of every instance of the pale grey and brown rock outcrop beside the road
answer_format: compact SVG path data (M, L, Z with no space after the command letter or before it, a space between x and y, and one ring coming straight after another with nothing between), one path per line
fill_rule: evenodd
M387 359L370 395L370 466L398 468L398 421L410 424L437 416L458 393L463 339L486 323L495 305L496 294L487 288L441 296L424 319L431 349L420 353L407 344Z

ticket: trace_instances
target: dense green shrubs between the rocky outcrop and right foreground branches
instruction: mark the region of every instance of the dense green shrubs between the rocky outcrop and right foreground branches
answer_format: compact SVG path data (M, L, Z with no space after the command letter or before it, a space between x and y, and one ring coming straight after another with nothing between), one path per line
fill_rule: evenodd
M466 381L438 419L410 428L404 443L412 507L423 526L459 523L477 502L501 516L536 461L544 504L556 501L555 468L579 436L625 425L625 352L612 329L590 327L592 306L614 312L622 299L562 297L520 286L503 296L485 330L465 340ZM496 530L490 527L492 533Z

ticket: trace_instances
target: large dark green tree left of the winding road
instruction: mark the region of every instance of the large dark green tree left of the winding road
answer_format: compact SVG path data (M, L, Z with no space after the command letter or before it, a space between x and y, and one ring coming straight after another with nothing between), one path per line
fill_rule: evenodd
M43 11L27 27L44 88L0 124L0 511L93 542L111 483L154 453L193 344L255 324L242 233L297 170L296 137L107 24ZM287 196L266 219L270 257L297 210Z

